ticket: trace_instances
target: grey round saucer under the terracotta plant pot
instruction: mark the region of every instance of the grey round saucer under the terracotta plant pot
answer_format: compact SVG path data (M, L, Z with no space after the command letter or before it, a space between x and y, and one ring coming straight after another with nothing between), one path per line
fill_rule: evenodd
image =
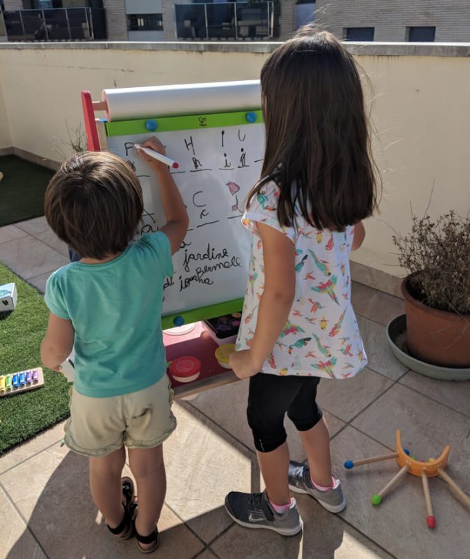
M387 339L395 357L405 367L417 373L441 381L468 381L470 380L470 367L454 369L452 367L439 367L424 363L408 354L406 345L406 315L400 315L388 322Z

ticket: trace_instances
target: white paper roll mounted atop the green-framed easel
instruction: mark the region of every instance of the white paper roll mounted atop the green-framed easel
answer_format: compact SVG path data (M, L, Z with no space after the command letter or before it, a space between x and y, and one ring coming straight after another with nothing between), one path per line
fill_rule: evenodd
M223 113L261 107L259 80L104 89L108 120Z

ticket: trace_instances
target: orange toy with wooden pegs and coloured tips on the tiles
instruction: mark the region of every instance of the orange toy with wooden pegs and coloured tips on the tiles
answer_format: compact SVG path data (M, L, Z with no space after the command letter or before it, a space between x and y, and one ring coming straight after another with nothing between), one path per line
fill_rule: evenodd
M433 459L429 458L428 461L417 460L415 457L409 455L409 451L402 447L402 435L400 429L397 429L397 436L395 442L395 452L393 454L375 456L370 458L364 458L361 460L346 460L344 467L347 470L354 468L355 466L361 466L362 464L372 464L373 462L379 462L383 460L391 460L393 458L397 459L398 465L401 467L400 471L395 474L392 479L382 488L379 493L376 493L372 497L372 504L379 505L382 502L383 497L391 491L391 489L404 477L405 474L415 475L421 477L423 484L424 493L424 503L426 504L426 522L429 528L435 528L435 516L433 513L433 505L431 503L431 495L429 493L429 477L441 477L444 482L449 486L455 497L462 502L465 506L470 508L470 497L465 495L465 493L460 489L460 487L449 477L449 475L444 472L444 468L447 466L447 461L449 459L449 451L451 447L448 445L444 448L442 455L439 458Z

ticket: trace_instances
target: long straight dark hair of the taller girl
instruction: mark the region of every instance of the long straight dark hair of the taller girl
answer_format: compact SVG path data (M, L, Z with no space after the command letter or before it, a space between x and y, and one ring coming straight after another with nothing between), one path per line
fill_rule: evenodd
M282 226L293 226L296 213L337 231L369 217L377 199L368 120L359 73L341 42L301 28L263 65L261 96L265 156L249 200L274 181Z

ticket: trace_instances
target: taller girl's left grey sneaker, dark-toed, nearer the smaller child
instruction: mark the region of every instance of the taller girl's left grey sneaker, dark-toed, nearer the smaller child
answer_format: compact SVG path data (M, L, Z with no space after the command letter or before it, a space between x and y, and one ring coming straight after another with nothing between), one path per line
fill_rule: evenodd
M277 514L263 493L238 493L232 491L225 497L225 510L237 524L245 528L265 528L281 535L295 535L302 529L297 503L284 514Z

